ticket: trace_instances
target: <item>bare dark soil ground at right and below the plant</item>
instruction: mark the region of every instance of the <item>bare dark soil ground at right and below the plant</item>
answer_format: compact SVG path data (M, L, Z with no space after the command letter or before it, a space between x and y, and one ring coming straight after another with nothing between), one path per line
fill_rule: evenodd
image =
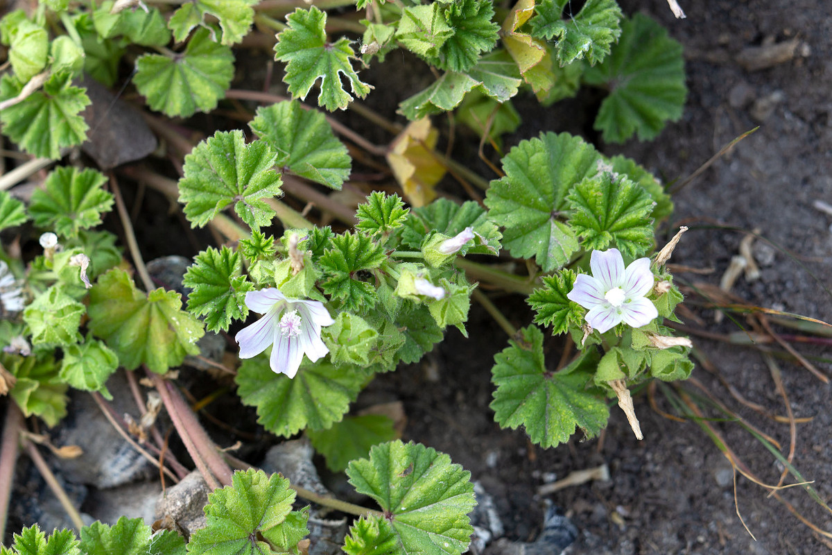
M735 136L760 126L760 131L740 142L729 156L717 161L675 197L671 228L684 223L691 231L672 261L715 269L711 275L681 274L679 278L719 282L743 236L735 230L720 229L726 226L759 228L763 236L795 255L824 285L832 285L832 216L812 206L816 200L832 202L832 6L810 0L787 4L774 0L715 0L706 6L682 1L688 17L679 21L672 17L665 0L621 3L626 13L643 10L656 17L672 37L682 42L690 93L681 121L667 126L656 141L600 145L602 150L625 153L672 181L696 170ZM809 50L800 50L794 59L757 72L747 72L735 62L739 52L759 46L768 37L777 41L797 37ZM389 60L371 70L368 81L380 83L384 72L398 63ZM402 67L404 62L391 71L401 77L400 86L412 85L415 92L423 76L411 76L401 71ZM399 100L385 98L377 90L368 104L393 117ZM592 119L576 120L574 114L576 107L597 107L597 102L597 95L589 92L577 101L541 112L532 102L518 101L524 123L506 147L549 130L581 133L596 141ZM768 114L765 102L771 107ZM349 112L339 117L350 123L354 119ZM367 132L374 136L380 131ZM382 140L389 141L389 136L379 142ZM460 152L462 156L457 157L464 160L471 154L470 146L458 146L457 154ZM490 175L475 153L469 163L478 165L483 175ZM158 229L163 227L160 224ZM155 249L161 252L146 252L148 258L171 254L164 246L156 245ZM748 283L740 278L735 293L755 305L832 320L830 294L781 251L776 252L773 265L762 269L760 280ZM531 313L519 300L503 297L495 302L511 315L515 325L531 321ZM694 310L709 331L737 330L730 320L714 324L712 310L696 306ZM546 497L562 508L579 530L569 553L830 552L783 505L766 498L765 489L738 478L739 509L757 538L753 540L735 513L731 467L726 458L699 426L656 414L645 395L636 397L636 413L645 435L641 442L633 437L615 408L602 440L582 442L576 437L566 446L543 450L532 446L522 430L500 430L488 409L493 391L490 369L493 354L507 346L507 340L488 315L476 307L468 330L471 339L452 330L448 340L422 364L379 377L359 397L359 404L401 399L409 421L404 439L448 453L454 462L470 470L493 495L508 538L528 541L539 533L544 499L535 492L542 483L555 475L563 478L573 470L607 463L609 481L562 489ZM769 369L754 349L694 339L746 399L772 413L785 412ZM549 346L548 356L557 359L557 341ZM828 356L829 349L827 353L822 349L800 350ZM825 373L832 372L829 364L819 365ZM810 423L798 424L795 466L805 478L815 480L821 498L830 502L832 386L796 364L782 363L781 368L795 415L813 418ZM433 370L438 372L438 382L430 378ZM697 366L694 377L743 419L788 445L788 424L775 423L745 409L701 366ZM670 410L661 394L657 399L661 409ZM781 468L770 453L736 424L714 425L760 478L776 483ZM805 492L795 488L783 496L806 518L832 531L830 513L813 503Z

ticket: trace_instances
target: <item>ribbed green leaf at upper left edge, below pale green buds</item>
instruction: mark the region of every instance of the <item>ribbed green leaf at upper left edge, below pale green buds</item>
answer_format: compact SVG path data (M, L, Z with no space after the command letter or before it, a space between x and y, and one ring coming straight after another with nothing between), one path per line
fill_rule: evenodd
M0 100L17 97L24 83L4 75ZM34 156L61 157L63 146L87 140L87 123L80 112L90 104L81 87L72 87L69 72L53 73L41 90L0 112L2 131L24 151Z

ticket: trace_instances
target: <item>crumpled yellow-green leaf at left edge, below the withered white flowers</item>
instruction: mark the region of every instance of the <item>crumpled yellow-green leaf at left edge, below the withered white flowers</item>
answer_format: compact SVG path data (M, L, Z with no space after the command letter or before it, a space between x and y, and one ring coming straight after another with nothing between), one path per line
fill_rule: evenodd
M58 365L52 354L43 358L2 354L2 364L17 378L9 394L24 415L34 414L50 427L67 415L67 384L57 379Z

